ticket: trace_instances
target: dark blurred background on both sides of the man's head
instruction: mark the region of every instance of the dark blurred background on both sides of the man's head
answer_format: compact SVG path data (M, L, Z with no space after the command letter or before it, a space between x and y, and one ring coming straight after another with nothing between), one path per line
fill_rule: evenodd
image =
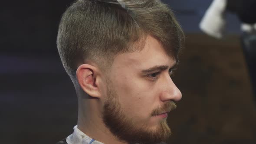
M4 1L0 9L0 143L55 144L77 119L73 84L56 48L60 17L73 0ZM163 0L186 33L174 75L183 99L168 144L256 144L256 103L240 44L240 20L226 35L199 29L212 0Z

